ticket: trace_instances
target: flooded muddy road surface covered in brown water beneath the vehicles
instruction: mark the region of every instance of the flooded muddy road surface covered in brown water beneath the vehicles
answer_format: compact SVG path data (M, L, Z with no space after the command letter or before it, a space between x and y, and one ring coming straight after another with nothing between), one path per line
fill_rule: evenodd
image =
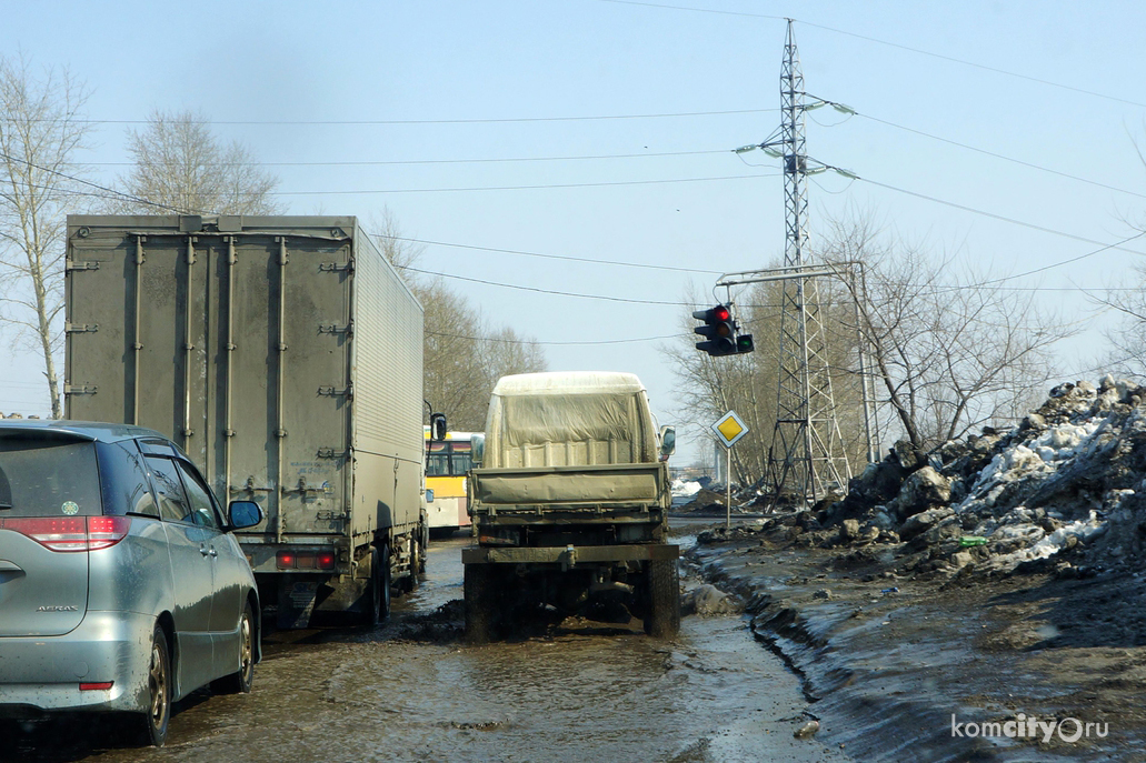
M809 717L799 682L736 615L685 618L670 643L563 623L462 645L462 609L450 603L462 597L469 542L432 544L422 585L395 599L380 628L273 634L254 691L188 698L162 750L117 747L73 716L15 730L0 760L846 760L793 738Z

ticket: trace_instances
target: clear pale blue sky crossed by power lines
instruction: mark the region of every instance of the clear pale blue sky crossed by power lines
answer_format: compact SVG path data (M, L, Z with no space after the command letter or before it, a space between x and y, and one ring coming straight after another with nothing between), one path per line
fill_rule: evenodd
M814 179L813 249L851 210L996 276L1098 252L1008 282L1084 322L1063 379L1094 376L1109 316L1082 290L1140 260L1098 251L1146 205L1140 2L13 2L0 50L86 80L97 180L152 109L199 110L291 213L388 209L435 242L416 267L554 370L636 372L670 423L657 338L689 289L783 257L778 162L732 149L778 125L785 16L807 92L858 112L809 113L809 156L862 179ZM0 410L47 412L38 363L6 364Z

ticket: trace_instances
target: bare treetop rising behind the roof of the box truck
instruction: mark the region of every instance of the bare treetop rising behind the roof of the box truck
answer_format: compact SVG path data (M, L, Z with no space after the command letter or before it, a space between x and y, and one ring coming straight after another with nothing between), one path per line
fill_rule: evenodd
M278 214L278 179L262 170L243 143L221 143L203 113L152 111L142 131L127 131L134 166L123 190L141 202L116 199L111 211L185 214Z

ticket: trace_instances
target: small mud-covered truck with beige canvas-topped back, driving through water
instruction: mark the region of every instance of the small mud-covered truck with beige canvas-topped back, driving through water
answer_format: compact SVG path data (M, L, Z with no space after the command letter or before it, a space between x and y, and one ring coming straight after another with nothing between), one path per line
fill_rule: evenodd
M674 440L631 373L499 380L468 480L477 545L462 551L466 639L496 638L531 607L572 614L595 601L626 606L654 637L674 636Z

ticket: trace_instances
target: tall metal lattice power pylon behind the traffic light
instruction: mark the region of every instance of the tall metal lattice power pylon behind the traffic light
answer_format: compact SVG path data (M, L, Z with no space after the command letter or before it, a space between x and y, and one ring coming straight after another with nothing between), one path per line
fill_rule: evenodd
M808 219L808 155L804 148L803 71L788 19L780 73L784 112L784 265L803 266ZM780 308L779 392L768 454L776 496L803 495L813 503L846 490L851 469L835 419L827 338L815 278L784 282Z

